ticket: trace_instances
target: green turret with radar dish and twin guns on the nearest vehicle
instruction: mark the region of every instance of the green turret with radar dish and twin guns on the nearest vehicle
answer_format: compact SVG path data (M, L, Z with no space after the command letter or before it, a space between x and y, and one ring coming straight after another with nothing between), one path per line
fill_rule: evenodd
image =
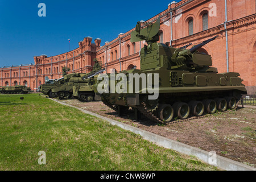
M138 22L135 31L131 32L131 42L145 40L147 46L141 49L141 70L148 69L180 69L194 71L212 71L217 72L216 68L210 68L212 57L197 51L200 47L216 39L205 40L204 42L193 46L191 49L185 49L191 44L181 48L169 47L168 43L158 43L159 41L160 16L155 23L147 23L141 29L141 23Z

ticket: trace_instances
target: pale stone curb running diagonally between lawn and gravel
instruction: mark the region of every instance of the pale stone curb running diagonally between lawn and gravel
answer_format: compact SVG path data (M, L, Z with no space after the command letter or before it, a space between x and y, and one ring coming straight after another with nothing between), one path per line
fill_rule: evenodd
M85 114L94 115L97 118L104 119L105 121L110 122L112 125L117 125L117 126L121 127L122 129L129 130L129 131L131 131L135 134L139 134L144 139L146 139L150 142L153 142L155 144L158 144L159 146L162 146L162 147L165 147L165 148L170 148L170 149L175 150L177 152L180 152L182 154L196 156L198 159L203 160L205 163L212 164L213 166L216 166L220 169L224 169L224 170L227 170L227 171L256 171L256 168L254 168L254 167L247 166L246 164L236 162L234 160L224 158L224 157L219 156L219 155L216 155L216 159L214 160L215 164L213 164L213 161L212 161L213 156L209 155L209 152L207 152L207 151L201 150L201 149L196 148L196 147L189 146L189 145L184 144L184 143L177 142L177 141L169 139L169 138L162 137L160 135L156 135L154 133L150 133L148 131L139 129L139 128L134 127L134 126L126 125L125 123L115 121L114 119L106 118L102 115L92 113L90 111L81 109L81 108L76 107L76 106L66 104L64 102L53 100L52 98L49 98L49 99L52 100L52 101L58 102L59 104L79 109L80 111L82 111Z

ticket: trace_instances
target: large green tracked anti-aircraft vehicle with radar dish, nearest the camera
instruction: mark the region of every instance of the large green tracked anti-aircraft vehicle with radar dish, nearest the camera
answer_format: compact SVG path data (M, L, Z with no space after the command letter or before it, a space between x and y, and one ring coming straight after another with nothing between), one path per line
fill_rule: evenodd
M135 92L131 87L133 89L127 93L118 93L118 90L113 91L110 81L111 92L101 93L104 104L118 111L132 107L148 119L160 123L170 122L174 117L187 119L191 115L200 117L216 110L234 109L241 94L246 94L240 74L218 73L217 68L211 67L212 57L197 51L218 36L190 49L174 48L168 43L158 43L159 28L160 17L155 23L145 24L144 28L141 28L140 22L137 23L135 30L131 32L131 42L145 40L147 43L141 49L141 69L123 73L127 76L127 88L142 80L139 81L139 89ZM131 73L137 73L140 77L129 80ZM146 75L144 80L143 74ZM150 78L152 75L154 79ZM155 81L155 77L158 80ZM97 85L99 84L98 81ZM143 84L151 87L145 89ZM114 85L118 86L118 81ZM158 97L154 99L152 97L156 92L152 93L153 88L158 88Z

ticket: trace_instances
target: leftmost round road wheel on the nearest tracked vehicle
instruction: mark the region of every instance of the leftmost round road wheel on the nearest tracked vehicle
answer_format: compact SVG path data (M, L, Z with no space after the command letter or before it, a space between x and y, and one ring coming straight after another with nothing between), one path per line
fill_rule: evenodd
M160 104L158 108L158 118L164 122L169 122L174 118L174 109L171 105Z

